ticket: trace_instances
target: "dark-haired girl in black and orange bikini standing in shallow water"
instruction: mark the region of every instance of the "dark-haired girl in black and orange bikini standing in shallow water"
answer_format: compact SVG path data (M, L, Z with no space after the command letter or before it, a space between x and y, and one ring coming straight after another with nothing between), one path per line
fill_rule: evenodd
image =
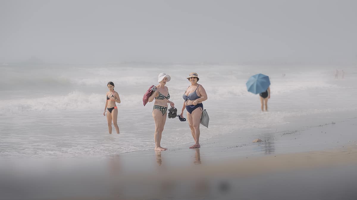
M107 121L108 121L108 128L109 128L109 134L111 134L112 131L112 121L116 130L116 133L119 134L119 127L117 123L118 119L118 108L116 107L115 102L120 104L120 98L119 94L114 91L114 83L109 81L107 83L109 92L107 92L106 96L106 102L105 102L105 108L104 108L104 113L103 115L105 116L105 112L107 113Z

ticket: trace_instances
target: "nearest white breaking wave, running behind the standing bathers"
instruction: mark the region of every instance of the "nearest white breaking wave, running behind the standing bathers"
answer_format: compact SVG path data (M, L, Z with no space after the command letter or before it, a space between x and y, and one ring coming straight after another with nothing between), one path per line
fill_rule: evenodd
M232 85L222 84L214 85L208 83L204 86L207 96L213 101L226 101L227 99L239 98L240 96L251 96L245 85ZM296 83L293 82L287 84L274 84L271 85L272 95L287 95L296 92L297 90L315 91L317 89L337 89L340 86L326 84L323 82L305 82ZM142 93L130 94L130 90L127 92L119 91L121 104L118 106L126 106L131 108L139 108L142 105L142 96L147 88L142 88ZM176 105L181 105L183 102L182 94L185 92L185 88L182 86L170 86L169 88L171 101ZM237 99L238 100L238 99ZM41 98L25 99L24 97L13 100L1 100L0 111L3 113L18 113L29 111L56 111L56 110L80 110L83 106L88 109L102 109L105 105L105 93L84 93L80 91L72 91L67 95L47 95ZM178 106L180 107L180 106Z

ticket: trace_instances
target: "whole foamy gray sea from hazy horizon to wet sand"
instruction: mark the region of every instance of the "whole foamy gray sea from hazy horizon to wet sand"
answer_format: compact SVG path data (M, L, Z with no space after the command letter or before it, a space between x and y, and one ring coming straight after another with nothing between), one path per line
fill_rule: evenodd
M12 88L14 92L7 90L10 86L4 86L1 92L4 95L0 99L0 140L3 141L0 157L85 158L151 149L154 145L152 104L144 107L141 99L147 84L157 81L157 73L161 70L171 75L167 86L170 100L178 109L183 101L181 96L189 85L186 71L195 68L202 77L200 84L208 94L203 106L211 119L210 128L202 127L202 142L236 133L241 135L239 141L247 143L250 135L263 132L273 135L277 129L277 132L300 130L305 123L311 122L311 126L331 123L334 120L327 116L337 114L344 119L340 113L350 115L348 111L357 111L354 102L357 77L352 74L352 68L345 80L335 80L334 69L322 67L307 70L291 66L278 69L264 66L236 68L234 65L170 66L87 69L74 66L69 70L59 67L56 73L52 69L33 71L27 68L17 73L7 68L5 78L16 77L19 83ZM115 76L108 75L108 71ZM271 78L269 112L262 113L258 96L246 91L246 79L256 72L267 73ZM32 78L32 74L39 76ZM122 133L119 136L107 134L107 121L102 115L106 79L117 85L122 101L117 105ZM299 122L310 116L316 117ZM172 147L190 141L187 122L166 120L162 146Z

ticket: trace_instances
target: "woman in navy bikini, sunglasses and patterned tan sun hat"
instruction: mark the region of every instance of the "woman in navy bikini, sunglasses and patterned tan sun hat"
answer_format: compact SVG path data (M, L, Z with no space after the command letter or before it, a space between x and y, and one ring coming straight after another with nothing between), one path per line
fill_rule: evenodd
M183 102L181 116L186 108L188 125L190 126L193 140L195 140L195 144L190 148L200 148L200 122L203 112L202 101L207 100L207 93L205 88L197 83L197 81L200 80L197 73L191 73L187 79L190 81L191 85L188 86L185 93L182 95L182 98L185 101Z

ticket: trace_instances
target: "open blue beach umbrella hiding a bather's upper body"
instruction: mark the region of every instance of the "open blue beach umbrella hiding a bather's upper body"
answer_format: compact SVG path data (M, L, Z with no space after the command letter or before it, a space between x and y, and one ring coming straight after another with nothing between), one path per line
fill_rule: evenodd
M253 94L259 94L265 92L268 89L270 85L270 80L267 75L256 74L248 79L246 85L248 92L251 92Z

